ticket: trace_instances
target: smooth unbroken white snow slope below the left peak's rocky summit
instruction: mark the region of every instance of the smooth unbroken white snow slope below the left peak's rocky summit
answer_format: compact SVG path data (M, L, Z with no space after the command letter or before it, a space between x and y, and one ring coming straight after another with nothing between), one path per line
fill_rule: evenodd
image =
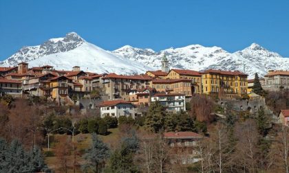
M78 65L84 71L94 71L96 73L144 73L152 70L138 62L132 62L121 57L117 57L96 45L83 43L71 51L50 54L29 62L30 67L42 65L52 65L55 69L72 69Z

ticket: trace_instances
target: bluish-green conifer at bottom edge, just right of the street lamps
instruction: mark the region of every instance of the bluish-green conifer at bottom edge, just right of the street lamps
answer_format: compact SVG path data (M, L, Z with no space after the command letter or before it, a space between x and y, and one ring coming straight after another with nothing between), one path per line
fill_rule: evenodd
M109 148L103 141L98 139L97 135L92 134L92 147L87 150L84 155L87 164L84 165L83 170L87 172L89 169L98 173L100 167L103 167L105 159L109 157Z

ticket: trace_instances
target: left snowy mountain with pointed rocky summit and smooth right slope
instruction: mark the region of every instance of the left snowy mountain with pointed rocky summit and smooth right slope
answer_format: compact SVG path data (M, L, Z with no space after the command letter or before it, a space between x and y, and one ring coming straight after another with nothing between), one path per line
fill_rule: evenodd
M96 73L144 73L152 70L139 62L133 62L111 54L96 45L88 43L75 32L64 38L52 38L42 45L23 47L0 65L17 65L29 62L30 67L52 65L55 69L71 70L78 65L84 71Z

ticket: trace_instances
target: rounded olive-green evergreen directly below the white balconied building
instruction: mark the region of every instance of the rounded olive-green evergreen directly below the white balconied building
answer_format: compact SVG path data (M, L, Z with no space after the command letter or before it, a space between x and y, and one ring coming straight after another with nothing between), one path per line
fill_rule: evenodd
M153 132L159 132L164 126L166 113L160 102L153 102L149 106L144 126Z

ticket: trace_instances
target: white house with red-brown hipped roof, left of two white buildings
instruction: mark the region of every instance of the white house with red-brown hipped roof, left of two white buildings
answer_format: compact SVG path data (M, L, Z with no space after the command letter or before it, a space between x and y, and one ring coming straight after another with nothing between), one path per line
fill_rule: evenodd
M105 117L107 115L111 117L120 117L120 116L131 116L133 119L136 115L136 108L125 100L109 100L105 101L99 105L100 107L100 116Z

